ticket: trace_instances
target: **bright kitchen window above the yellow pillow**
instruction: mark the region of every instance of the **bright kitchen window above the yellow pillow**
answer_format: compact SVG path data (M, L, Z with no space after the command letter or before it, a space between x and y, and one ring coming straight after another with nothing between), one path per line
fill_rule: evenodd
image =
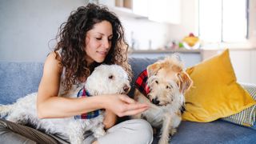
M203 41L246 41L248 0L198 1L198 34Z

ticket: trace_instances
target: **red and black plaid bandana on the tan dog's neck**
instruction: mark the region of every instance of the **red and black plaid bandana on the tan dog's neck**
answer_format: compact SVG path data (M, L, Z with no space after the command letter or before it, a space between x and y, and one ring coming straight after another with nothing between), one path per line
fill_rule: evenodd
M147 94L150 93L150 87L147 86L147 70L143 70L141 74L138 75L138 78L135 82L135 88L137 88L142 94L147 98Z

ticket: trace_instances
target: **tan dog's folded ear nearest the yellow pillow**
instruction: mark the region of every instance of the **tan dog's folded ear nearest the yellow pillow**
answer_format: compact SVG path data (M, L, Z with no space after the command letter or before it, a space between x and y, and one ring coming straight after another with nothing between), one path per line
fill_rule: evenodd
M186 90L189 90L192 84L193 81L186 72L182 71L178 73L178 87L182 94L185 94Z

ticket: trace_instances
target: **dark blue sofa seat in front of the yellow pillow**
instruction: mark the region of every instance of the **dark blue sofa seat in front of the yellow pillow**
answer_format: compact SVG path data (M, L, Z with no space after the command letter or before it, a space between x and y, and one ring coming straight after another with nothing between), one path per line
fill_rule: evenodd
M214 122L182 122L171 143L242 143L256 142L256 131L221 120Z

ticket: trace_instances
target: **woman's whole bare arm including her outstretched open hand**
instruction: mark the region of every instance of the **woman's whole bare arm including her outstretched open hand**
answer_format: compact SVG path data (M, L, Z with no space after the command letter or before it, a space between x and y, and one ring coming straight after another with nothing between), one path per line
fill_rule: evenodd
M98 109L110 110L121 117L138 114L148 108L147 105L138 104L122 94L86 98L58 97L62 66L55 56L56 54L52 52L46 58L39 84L37 101L39 118L65 118Z

